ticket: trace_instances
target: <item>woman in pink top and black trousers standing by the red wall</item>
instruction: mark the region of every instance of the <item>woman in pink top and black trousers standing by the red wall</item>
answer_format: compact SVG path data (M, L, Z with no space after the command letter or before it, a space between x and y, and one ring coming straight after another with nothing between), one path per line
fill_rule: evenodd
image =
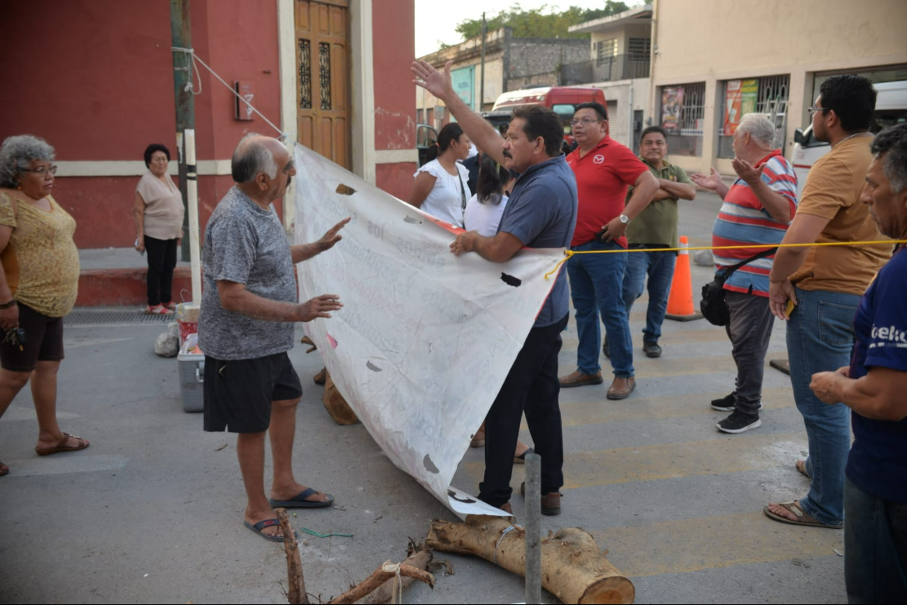
M180 189L167 174L170 149L156 143L145 149L148 172L135 188L135 249L148 252L148 306L146 313L170 315L176 308L171 296L176 249L182 240L184 208Z

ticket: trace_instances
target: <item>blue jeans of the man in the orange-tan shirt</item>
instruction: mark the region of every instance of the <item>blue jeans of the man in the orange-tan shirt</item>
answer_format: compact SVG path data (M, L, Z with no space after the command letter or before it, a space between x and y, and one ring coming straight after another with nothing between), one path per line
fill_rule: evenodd
M850 363L856 294L796 289L797 306L787 322L787 357L796 407L803 414L809 457L806 472L813 483L800 507L831 525L844 521L844 466L850 451L850 409L832 406L809 388L813 374Z

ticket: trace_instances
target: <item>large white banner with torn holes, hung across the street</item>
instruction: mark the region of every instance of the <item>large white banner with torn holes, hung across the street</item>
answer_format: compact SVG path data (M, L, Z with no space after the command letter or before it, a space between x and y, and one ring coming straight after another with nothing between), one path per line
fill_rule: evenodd
M448 246L460 229L301 145L296 166L297 244L352 216L341 242L297 265L300 301L332 293L344 303L304 324L337 389L394 464L454 513L502 514L450 484L563 251L457 258Z

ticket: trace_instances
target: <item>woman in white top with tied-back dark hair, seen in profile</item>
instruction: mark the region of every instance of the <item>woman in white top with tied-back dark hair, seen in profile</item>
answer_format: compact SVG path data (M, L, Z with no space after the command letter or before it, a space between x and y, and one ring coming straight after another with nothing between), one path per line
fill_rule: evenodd
M470 196L469 171L457 160L466 158L470 145L469 136L459 124L444 126L436 145L428 149L431 161L415 171L413 189L406 201L435 218L462 227Z

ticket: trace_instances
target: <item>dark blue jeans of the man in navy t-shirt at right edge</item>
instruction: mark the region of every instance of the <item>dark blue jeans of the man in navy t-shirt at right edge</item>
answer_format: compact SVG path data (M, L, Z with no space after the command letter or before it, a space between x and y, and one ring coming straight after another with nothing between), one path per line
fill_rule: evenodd
M844 582L848 603L902 603L907 597L907 504L844 483Z

